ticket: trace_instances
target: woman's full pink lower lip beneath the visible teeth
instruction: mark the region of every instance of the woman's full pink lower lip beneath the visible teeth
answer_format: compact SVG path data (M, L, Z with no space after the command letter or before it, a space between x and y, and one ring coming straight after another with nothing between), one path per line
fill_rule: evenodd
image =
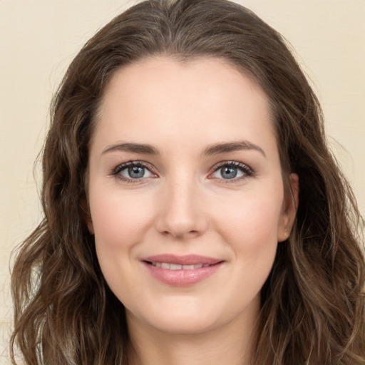
M215 274L222 265L222 262L218 262L217 264L208 267L200 267L199 269L171 270L153 266L147 262L143 263L155 279L158 279L164 284L173 285L174 287L188 287L197 284L198 282L202 282L202 280Z

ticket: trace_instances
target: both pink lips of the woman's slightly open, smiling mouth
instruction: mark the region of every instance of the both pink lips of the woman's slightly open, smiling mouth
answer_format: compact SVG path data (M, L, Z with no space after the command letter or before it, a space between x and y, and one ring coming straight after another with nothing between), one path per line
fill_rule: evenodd
M164 284L174 287L187 287L190 285L202 282L202 280L215 274L222 266L223 260L215 259L213 257L206 257L200 255L155 255L145 257L142 260L148 272ZM163 267L154 266L152 263L168 263L178 265L205 265L194 269L165 269Z

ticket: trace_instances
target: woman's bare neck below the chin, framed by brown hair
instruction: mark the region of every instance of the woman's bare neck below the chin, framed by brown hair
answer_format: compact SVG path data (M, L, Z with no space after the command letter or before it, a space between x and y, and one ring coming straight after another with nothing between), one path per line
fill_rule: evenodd
M252 365L256 319L234 319L225 327L202 333L170 334L129 318L128 364Z

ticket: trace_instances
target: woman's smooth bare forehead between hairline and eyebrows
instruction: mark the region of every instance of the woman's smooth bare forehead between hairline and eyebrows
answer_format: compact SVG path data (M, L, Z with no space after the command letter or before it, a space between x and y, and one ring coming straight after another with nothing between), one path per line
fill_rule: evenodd
M268 98L252 78L221 58L159 56L115 72L94 139L202 144L232 140L238 131L245 139L274 135Z

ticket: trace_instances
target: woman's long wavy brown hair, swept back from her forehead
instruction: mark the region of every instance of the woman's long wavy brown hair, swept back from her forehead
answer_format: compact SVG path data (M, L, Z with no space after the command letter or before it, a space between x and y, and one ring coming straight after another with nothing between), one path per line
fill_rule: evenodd
M277 31L226 0L144 1L81 49L56 94L43 150L44 219L14 264L14 333L26 364L128 364L123 304L98 266L85 217L88 143L118 68L152 55L225 58L271 102L297 220L262 288L253 364L365 364L363 224L327 148L322 112ZM41 351L38 351L41 349Z

